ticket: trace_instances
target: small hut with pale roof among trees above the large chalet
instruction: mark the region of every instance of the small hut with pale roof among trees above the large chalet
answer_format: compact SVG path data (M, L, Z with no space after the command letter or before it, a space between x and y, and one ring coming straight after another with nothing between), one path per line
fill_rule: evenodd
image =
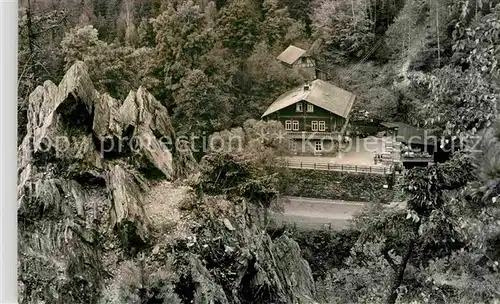
M316 61L304 49L290 45L276 58L285 67L297 70L305 79L316 79Z

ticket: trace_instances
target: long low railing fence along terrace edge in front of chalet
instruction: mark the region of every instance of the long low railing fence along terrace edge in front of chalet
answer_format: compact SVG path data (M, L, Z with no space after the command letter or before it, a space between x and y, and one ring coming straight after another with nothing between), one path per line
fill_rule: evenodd
M391 167L315 163L315 162L304 162L304 161L294 161L294 160L288 160L286 162L286 167L293 169L313 169L313 170L358 172L358 173L373 173L373 174L392 173Z

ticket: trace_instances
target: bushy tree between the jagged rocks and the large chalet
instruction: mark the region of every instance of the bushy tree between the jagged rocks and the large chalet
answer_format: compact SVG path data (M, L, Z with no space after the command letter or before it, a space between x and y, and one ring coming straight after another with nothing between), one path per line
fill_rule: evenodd
M199 191L268 208L278 196L276 157L285 151L282 136L280 123L255 120L213 134L209 153L201 161Z

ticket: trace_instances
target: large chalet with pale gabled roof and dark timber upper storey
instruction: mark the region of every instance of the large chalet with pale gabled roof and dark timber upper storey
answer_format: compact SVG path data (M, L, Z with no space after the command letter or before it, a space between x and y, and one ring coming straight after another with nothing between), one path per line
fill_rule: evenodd
M283 124L293 153L334 155L355 99L353 93L316 79L279 96L262 118Z

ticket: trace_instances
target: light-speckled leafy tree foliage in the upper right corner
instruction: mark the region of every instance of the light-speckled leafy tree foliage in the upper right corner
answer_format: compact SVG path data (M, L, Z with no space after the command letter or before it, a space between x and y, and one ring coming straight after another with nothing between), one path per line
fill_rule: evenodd
M468 25L460 17L456 22L451 55L456 66L422 77L430 88L430 101L423 112L429 125L452 136L467 137L489 127L497 113L500 8Z

